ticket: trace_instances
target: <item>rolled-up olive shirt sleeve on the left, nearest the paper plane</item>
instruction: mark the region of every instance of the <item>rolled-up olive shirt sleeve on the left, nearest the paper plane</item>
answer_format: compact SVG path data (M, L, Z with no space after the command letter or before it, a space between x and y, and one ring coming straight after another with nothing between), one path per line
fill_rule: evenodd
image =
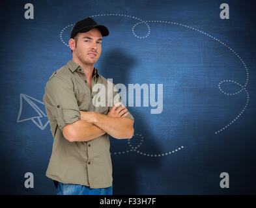
M71 80L60 76L51 77L46 83L43 101L61 131L63 131L64 125L81 119Z

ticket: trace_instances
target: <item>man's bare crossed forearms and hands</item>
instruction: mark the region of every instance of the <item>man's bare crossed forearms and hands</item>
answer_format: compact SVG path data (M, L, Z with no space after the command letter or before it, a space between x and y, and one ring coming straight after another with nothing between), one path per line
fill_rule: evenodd
M70 142L85 142L108 133L114 138L132 138L134 135L134 120L125 118L128 115L126 107L117 103L107 115L97 112L80 110L81 120L63 127L63 136Z

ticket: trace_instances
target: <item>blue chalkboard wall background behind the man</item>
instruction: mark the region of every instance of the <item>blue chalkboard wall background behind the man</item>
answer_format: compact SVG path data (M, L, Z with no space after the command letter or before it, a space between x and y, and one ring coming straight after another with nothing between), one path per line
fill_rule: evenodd
M24 18L26 3L35 19ZM134 138L111 138L113 194L256 194L254 13L254 1L3 1L0 194L56 194L42 96L72 59L72 25L89 16L110 32L101 75L127 88L163 84L162 113L128 107Z

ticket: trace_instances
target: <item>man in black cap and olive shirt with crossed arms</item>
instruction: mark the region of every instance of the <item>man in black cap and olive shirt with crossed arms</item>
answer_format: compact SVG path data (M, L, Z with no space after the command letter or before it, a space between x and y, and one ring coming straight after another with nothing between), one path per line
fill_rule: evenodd
M115 85L94 68L102 36L108 34L92 18L78 21L69 40L72 60L46 83L43 101L54 138L46 176L55 182L57 194L113 194L108 135L134 135L134 117L120 102ZM100 97L104 105L95 104L96 85L111 86Z

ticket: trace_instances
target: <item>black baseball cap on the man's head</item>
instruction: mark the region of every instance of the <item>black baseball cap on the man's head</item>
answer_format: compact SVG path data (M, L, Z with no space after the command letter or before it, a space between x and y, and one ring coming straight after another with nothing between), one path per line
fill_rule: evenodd
M96 21L92 18L86 18L76 23L76 25L73 27L71 31L70 38L74 38L74 36L76 36L78 32L88 32L95 27L100 30L100 32L102 33L102 36L109 35L109 31L107 27L105 27L104 25L98 25L98 23L96 23Z

